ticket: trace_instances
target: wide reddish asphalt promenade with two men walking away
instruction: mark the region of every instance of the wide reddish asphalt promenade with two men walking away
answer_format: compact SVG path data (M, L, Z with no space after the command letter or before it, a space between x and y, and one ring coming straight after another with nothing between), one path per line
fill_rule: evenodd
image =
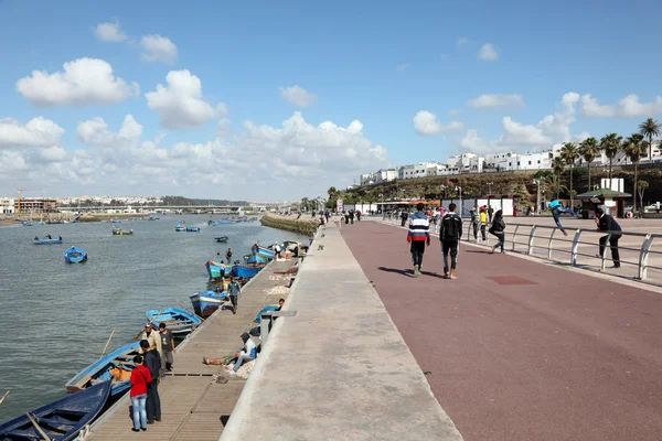
M662 294L406 230L342 235L466 440L662 440ZM496 279L491 279L496 278Z

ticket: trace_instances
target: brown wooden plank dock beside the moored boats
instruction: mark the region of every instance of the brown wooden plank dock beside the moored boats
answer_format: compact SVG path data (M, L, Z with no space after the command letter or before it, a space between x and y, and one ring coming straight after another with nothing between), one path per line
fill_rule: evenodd
M173 373L159 385L161 422L149 424L147 432L131 431L127 394L92 427L85 440L217 440L246 381L231 378L226 384L216 383L223 367L204 365L202 357L224 357L242 346L239 335L257 326L253 320L259 310L287 298L265 292L289 283L289 275L274 271L285 271L295 263L295 259L269 263L242 291L236 314L217 310L178 346Z

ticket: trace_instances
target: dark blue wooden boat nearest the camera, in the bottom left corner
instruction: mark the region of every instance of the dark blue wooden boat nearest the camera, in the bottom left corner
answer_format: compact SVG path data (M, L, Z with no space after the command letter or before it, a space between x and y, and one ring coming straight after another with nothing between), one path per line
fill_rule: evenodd
M39 427L53 441L73 440L104 409L110 381L68 395L31 411ZM43 437L23 415L0 426L0 440L42 440Z

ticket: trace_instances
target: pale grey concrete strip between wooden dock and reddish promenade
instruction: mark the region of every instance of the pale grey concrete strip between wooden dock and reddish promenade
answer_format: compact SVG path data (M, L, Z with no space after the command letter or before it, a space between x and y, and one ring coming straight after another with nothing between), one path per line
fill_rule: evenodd
M221 440L462 439L334 225L285 310Z

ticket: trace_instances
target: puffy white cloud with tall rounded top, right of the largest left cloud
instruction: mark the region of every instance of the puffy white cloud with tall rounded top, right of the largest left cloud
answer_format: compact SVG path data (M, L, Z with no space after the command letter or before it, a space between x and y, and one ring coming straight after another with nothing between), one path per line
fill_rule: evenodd
M212 107L202 99L202 83L189 71L171 71L167 86L145 94L150 109L161 116L161 127L185 129L204 126L214 117L225 114L225 106Z

